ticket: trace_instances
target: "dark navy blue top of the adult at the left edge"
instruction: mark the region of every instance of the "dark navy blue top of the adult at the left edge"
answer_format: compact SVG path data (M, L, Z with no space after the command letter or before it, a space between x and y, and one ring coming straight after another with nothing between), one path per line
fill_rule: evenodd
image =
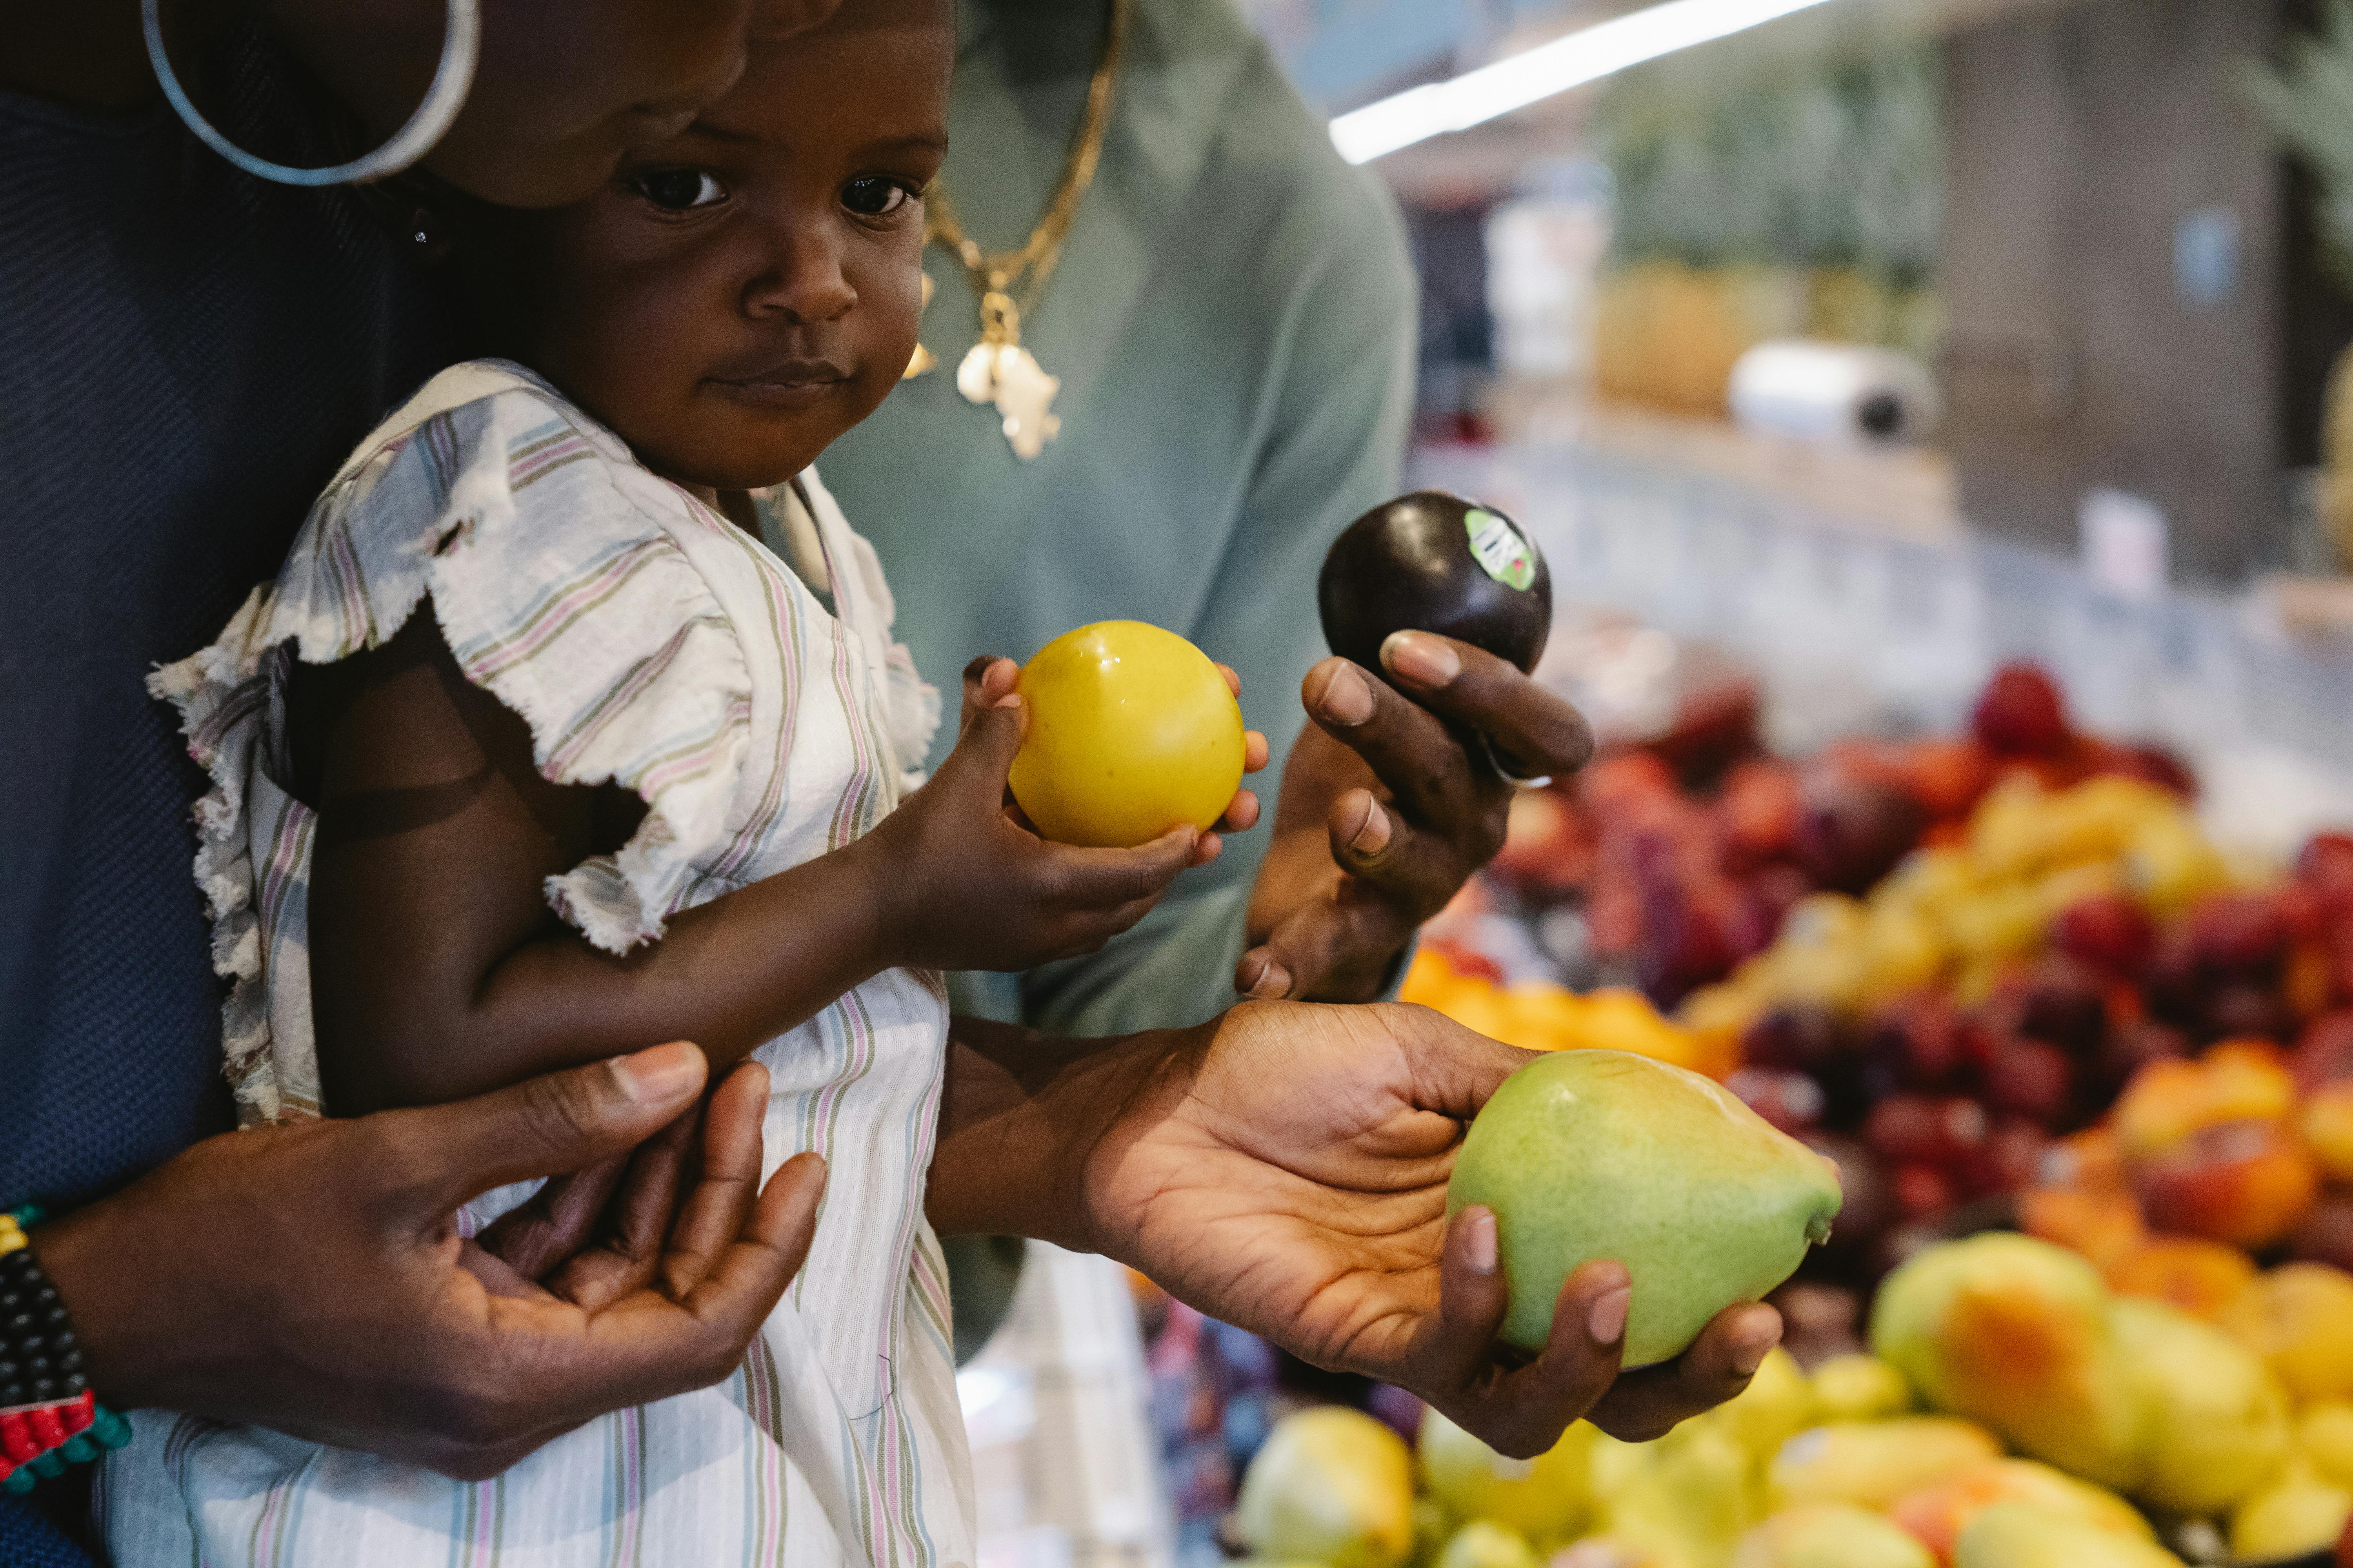
M287 146L304 118L240 45L221 120ZM449 348L351 193L238 174L169 110L0 92L0 1204L228 1126L200 776L141 682L278 571Z

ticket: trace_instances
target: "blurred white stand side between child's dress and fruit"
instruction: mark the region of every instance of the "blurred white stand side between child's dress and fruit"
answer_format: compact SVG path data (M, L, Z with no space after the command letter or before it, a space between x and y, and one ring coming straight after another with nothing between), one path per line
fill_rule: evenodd
M1031 1241L1005 1326L955 1378L976 1568L1174 1559L1127 1269Z

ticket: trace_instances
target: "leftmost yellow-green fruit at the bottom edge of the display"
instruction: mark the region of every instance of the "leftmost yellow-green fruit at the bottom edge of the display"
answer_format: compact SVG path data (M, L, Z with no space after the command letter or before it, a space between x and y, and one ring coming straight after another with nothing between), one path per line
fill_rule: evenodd
M1362 1410L1294 1410L1242 1472L1233 1526L1252 1556L1400 1568L1414 1549L1414 1455Z

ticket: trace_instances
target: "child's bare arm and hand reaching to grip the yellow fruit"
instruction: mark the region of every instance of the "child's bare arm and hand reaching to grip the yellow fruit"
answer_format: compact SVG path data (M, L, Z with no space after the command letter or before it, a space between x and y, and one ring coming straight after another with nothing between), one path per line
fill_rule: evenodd
M1092 952L1214 853L1045 844L1002 809L1021 741L1012 665L967 672L955 752L864 839L685 910L626 957L544 882L619 849L628 790L539 776L532 733L473 686L419 607L381 649L299 665L287 726L318 809L311 1006L336 1114L440 1103L664 1039L713 1072L899 964L1026 969ZM1000 705L1002 703L1002 705ZM1233 825L1254 804L1238 797Z

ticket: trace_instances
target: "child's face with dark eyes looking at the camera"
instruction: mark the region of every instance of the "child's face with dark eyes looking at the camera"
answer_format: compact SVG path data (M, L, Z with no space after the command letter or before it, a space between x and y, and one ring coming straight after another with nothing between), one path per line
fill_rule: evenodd
M845 0L755 47L692 127L536 221L522 357L671 480L807 468L915 353L953 59L951 0Z

